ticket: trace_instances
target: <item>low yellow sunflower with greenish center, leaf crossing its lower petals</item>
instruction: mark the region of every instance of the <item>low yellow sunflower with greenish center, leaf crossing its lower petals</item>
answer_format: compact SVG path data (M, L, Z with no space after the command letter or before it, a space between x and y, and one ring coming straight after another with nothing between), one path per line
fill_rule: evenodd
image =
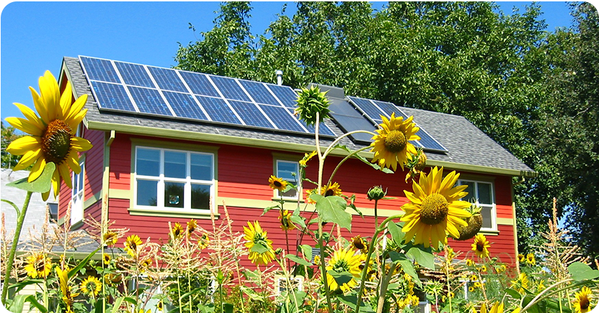
M341 291L345 292L357 285L356 278L360 277L361 260L360 255L355 252L351 246L345 249L339 248L339 250L333 252L333 257L329 259L329 265L327 266L327 283L331 291L341 289ZM335 278L329 274L329 271L336 271L337 273L349 272L353 277L349 282L345 282L339 286Z

